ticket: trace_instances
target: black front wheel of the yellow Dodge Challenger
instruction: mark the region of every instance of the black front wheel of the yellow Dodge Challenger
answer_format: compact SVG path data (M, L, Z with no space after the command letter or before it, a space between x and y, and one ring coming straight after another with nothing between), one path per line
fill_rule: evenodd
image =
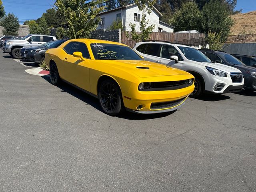
M124 109L121 90L114 80L104 80L100 84L98 98L102 110L110 116L116 116Z

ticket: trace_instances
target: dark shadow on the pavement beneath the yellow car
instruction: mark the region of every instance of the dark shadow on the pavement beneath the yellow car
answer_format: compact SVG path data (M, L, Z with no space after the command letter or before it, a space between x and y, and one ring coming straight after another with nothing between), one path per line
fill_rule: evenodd
M41 77L51 84L49 76L41 76ZM89 104L90 106L96 108L97 110L101 111L102 113L104 113L102 108L100 107L99 100L97 98L91 96L90 94L87 94L87 93L85 93L85 92L71 86L70 84L65 83L65 82L61 82L57 87L61 89L61 92L66 92L66 93L80 99L81 101ZM173 114L174 112L176 112L176 110L174 110L172 112L158 113L158 114L135 114L132 112L125 111L124 113L118 115L117 117L128 119L128 120L146 120L146 119L165 117L170 114Z

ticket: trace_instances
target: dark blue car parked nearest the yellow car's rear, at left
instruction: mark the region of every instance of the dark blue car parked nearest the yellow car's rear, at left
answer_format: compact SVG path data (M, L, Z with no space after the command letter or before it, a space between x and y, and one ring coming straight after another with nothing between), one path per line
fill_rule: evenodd
M24 58L28 59L31 62L40 63L45 58L46 50L51 48L57 48L65 41L66 40L51 41L44 44L43 46L26 48L24 52Z

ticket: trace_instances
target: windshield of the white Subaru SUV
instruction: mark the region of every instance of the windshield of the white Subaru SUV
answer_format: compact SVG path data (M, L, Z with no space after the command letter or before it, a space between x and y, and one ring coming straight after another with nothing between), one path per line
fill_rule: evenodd
M197 62L208 62L208 63L212 62L202 52L198 51L195 48L182 47L182 46L178 46L178 48L182 51L182 53L185 55L185 57L188 60L197 61Z

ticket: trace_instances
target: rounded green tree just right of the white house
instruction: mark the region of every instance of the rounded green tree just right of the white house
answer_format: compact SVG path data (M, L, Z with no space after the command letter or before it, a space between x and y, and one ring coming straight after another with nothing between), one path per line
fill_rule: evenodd
M170 22L175 26L175 31L200 31L202 13L195 2L187 2L182 4L181 8L174 13Z

